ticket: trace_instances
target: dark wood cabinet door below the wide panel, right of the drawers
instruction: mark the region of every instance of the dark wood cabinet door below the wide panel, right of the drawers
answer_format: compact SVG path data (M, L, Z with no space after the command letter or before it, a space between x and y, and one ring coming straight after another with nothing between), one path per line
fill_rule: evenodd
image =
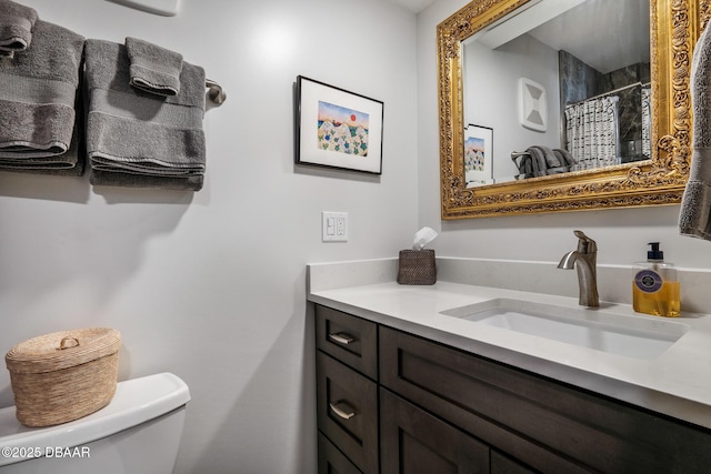
M380 389L383 473L489 473L489 447Z

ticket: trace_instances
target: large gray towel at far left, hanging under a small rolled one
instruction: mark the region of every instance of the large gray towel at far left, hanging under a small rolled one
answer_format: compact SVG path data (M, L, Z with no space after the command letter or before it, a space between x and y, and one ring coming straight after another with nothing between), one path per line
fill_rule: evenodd
M0 167L72 169L83 37L37 20L32 46L0 60ZM70 151L71 149L71 151Z

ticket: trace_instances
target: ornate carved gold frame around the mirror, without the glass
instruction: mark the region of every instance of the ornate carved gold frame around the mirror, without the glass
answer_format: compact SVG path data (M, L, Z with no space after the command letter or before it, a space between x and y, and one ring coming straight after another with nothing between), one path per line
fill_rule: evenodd
M691 160L691 52L709 0L650 0L652 158L467 188L462 41L529 0L473 0L437 28L442 219L565 212L681 201Z

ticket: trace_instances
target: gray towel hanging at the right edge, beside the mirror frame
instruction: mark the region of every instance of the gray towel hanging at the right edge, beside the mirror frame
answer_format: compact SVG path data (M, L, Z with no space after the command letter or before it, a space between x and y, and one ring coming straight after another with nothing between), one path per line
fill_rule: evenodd
M711 28L701 33L691 64L693 154L681 201L682 235L711 240Z

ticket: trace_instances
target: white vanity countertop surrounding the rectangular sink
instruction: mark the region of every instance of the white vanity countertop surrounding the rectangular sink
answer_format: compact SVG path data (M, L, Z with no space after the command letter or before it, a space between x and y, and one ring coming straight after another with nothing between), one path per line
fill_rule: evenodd
M334 273L322 270L333 281ZM340 288L314 284L310 276L308 300L711 428L711 315L664 319L690 330L661 355L635 359L440 314L499 297L580 309L577 297L444 281L407 286L387 281L384 273L375 272L374 281L385 280L381 283L363 284L367 279L361 278ZM629 304L602 302L598 311L660 319L635 313Z

